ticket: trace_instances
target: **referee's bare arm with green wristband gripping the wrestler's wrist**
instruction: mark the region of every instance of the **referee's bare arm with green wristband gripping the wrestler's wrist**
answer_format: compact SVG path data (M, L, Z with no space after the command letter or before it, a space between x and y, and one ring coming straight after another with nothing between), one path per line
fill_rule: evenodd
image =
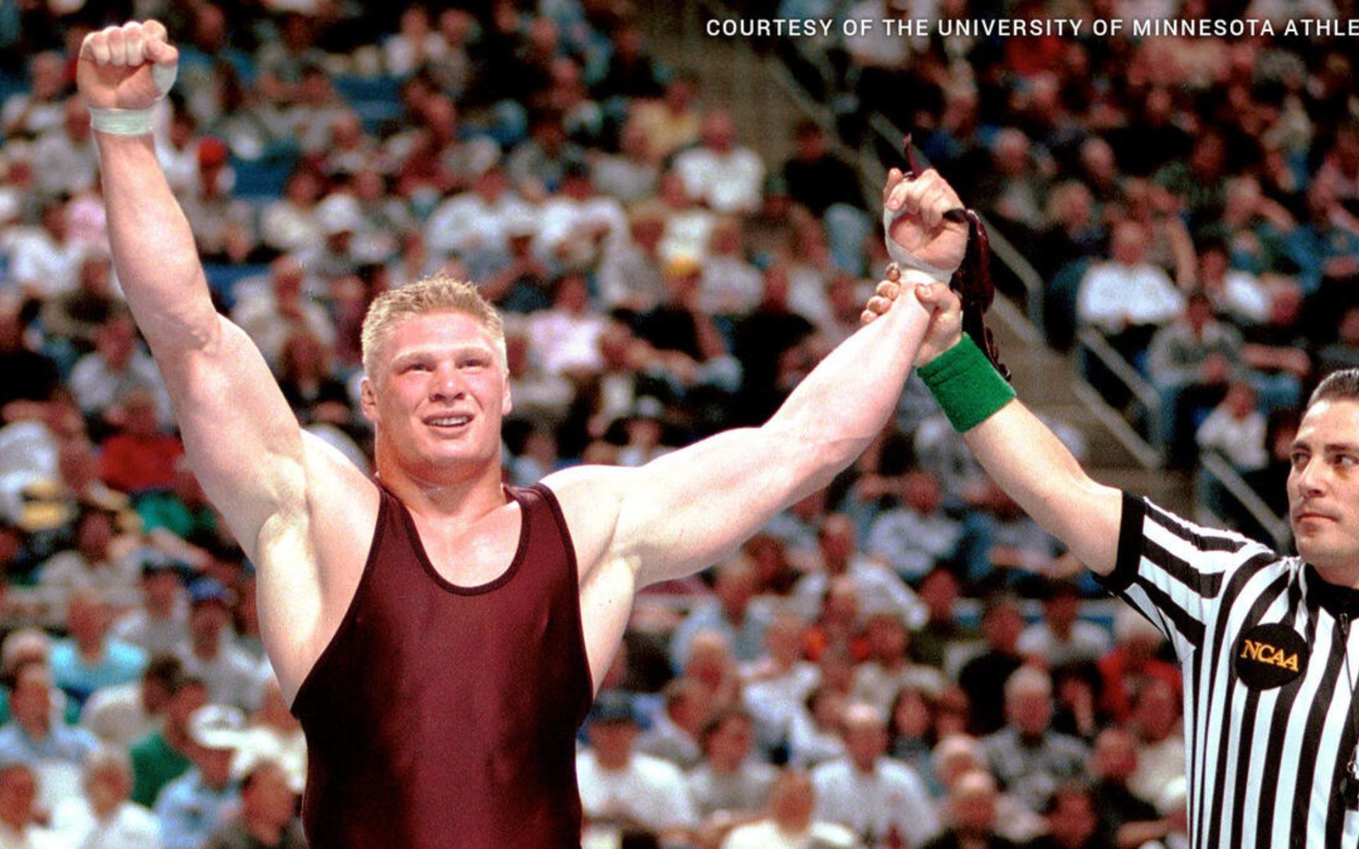
M1008 387L973 342L962 337L962 311L955 292L940 283L917 285L913 292L908 288L890 281L879 284L864 321L871 322L871 327L883 314L897 310L896 300L912 300L912 295L916 303L934 311L916 364L936 398L940 398L936 389L940 382L953 382L959 389L954 393L945 389L940 406L950 412L949 398L954 399L953 413L961 413L970 424L962 429L968 447L1000 489L1067 543L1082 562L1099 575L1112 572L1118 550L1123 494L1091 480L1061 440L1023 403L1017 398L1006 401ZM1002 406L989 412L996 405ZM969 406L973 409L966 409ZM983 417L981 421L973 422L977 417Z

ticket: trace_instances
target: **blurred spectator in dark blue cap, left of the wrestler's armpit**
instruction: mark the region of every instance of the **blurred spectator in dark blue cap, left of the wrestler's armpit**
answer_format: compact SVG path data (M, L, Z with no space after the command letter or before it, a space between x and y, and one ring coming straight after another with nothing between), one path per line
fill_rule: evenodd
M208 685L208 698L249 706L258 694L260 671L231 633L231 594L213 577L189 584L189 644L178 656L183 668Z

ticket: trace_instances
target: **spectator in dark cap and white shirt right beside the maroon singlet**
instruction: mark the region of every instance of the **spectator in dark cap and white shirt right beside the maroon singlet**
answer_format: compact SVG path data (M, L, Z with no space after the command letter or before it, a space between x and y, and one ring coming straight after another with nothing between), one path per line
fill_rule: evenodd
M576 755L576 780L588 820L658 835L697 825L680 767L635 751L637 717L626 696L601 693L587 731L590 746Z

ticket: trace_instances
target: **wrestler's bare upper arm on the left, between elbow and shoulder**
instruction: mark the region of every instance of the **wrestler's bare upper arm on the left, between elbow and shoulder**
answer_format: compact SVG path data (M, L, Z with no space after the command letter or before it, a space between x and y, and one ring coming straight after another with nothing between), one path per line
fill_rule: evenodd
M254 557L265 523L304 504L298 420L254 342L224 318L201 345L156 361L194 475Z

